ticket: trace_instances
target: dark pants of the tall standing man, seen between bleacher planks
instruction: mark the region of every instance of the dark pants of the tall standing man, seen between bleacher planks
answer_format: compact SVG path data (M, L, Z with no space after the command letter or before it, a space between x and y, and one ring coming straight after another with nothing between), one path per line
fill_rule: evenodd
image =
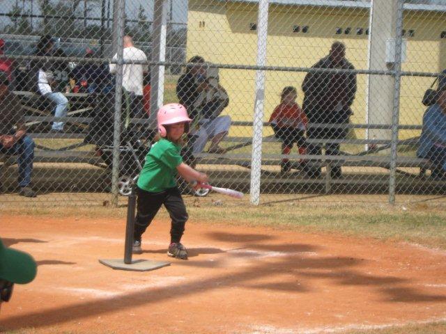
M310 127L307 130L308 138L322 138L322 139L341 139L346 138L346 129L335 129L335 128L321 128L321 127ZM337 143L326 143L325 144L325 154L327 155L339 155L341 145ZM318 144L307 145L308 154L321 155L322 146ZM331 177L341 177L341 167L336 166L331 168ZM311 168L309 170L310 176L318 177L321 175L321 168Z

